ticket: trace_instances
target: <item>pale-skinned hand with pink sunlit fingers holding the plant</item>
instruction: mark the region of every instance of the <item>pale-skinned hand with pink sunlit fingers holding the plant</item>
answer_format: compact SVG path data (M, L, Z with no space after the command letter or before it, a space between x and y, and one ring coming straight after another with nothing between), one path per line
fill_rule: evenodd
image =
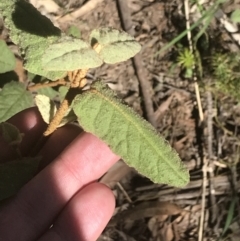
M46 125L35 108L9 122L25 133L21 152L27 155ZM39 154L42 170L0 209L0 241L96 240L115 206L111 190L96 180L119 157L75 125L55 131ZM0 162L14 158L0 138Z

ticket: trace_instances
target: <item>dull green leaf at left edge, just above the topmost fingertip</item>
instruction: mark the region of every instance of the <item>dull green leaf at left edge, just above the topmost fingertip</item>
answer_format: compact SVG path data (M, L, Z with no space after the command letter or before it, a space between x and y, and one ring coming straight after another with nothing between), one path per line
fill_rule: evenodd
M22 83L10 82L0 92L0 122L33 105L33 98Z

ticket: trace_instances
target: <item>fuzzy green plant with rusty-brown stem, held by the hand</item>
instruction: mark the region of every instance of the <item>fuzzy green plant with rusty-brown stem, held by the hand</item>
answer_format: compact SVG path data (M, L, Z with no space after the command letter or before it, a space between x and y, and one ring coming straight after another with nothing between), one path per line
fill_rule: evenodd
M86 85L90 68L125 61L140 51L141 46L133 37L108 27L94 29L88 42L67 36L24 0L1 0L0 15L12 42L21 51L24 68L48 80L28 90L19 82L3 86L0 130L5 142L18 151L22 134L5 121L33 105L29 90L65 86L67 93L59 108L46 95L35 97L44 121L49 124L43 136L77 120L86 132L102 139L129 166L153 182L176 187L188 183L188 170L178 154L147 121L122 103L101 80ZM5 73L14 68L15 58L3 40L0 51L0 71ZM16 193L36 174L39 161L40 157L22 157L19 153L17 160L0 164L0 200Z

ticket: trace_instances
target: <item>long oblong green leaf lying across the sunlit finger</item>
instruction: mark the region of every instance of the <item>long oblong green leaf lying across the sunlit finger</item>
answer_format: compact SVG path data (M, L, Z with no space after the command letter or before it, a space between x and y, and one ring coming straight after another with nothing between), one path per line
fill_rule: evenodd
M176 151L101 82L78 95L73 110L85 131L102 139L129 166L153 182L177 187L188 183L189 173Z

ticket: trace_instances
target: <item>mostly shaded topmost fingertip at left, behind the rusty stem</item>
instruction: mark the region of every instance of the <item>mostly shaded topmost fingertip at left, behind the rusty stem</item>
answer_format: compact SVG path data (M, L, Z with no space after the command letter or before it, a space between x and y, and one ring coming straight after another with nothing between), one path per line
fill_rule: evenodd
M36 107L19 112L7 122L15 125L21 133L24 133L23 141L20 145L20 151L23 156L33 148L43 131L46 129L46 124L43 122ZM14 153L3 140L0 141L0 153L0 158L4 162L17 158L16 153Z

